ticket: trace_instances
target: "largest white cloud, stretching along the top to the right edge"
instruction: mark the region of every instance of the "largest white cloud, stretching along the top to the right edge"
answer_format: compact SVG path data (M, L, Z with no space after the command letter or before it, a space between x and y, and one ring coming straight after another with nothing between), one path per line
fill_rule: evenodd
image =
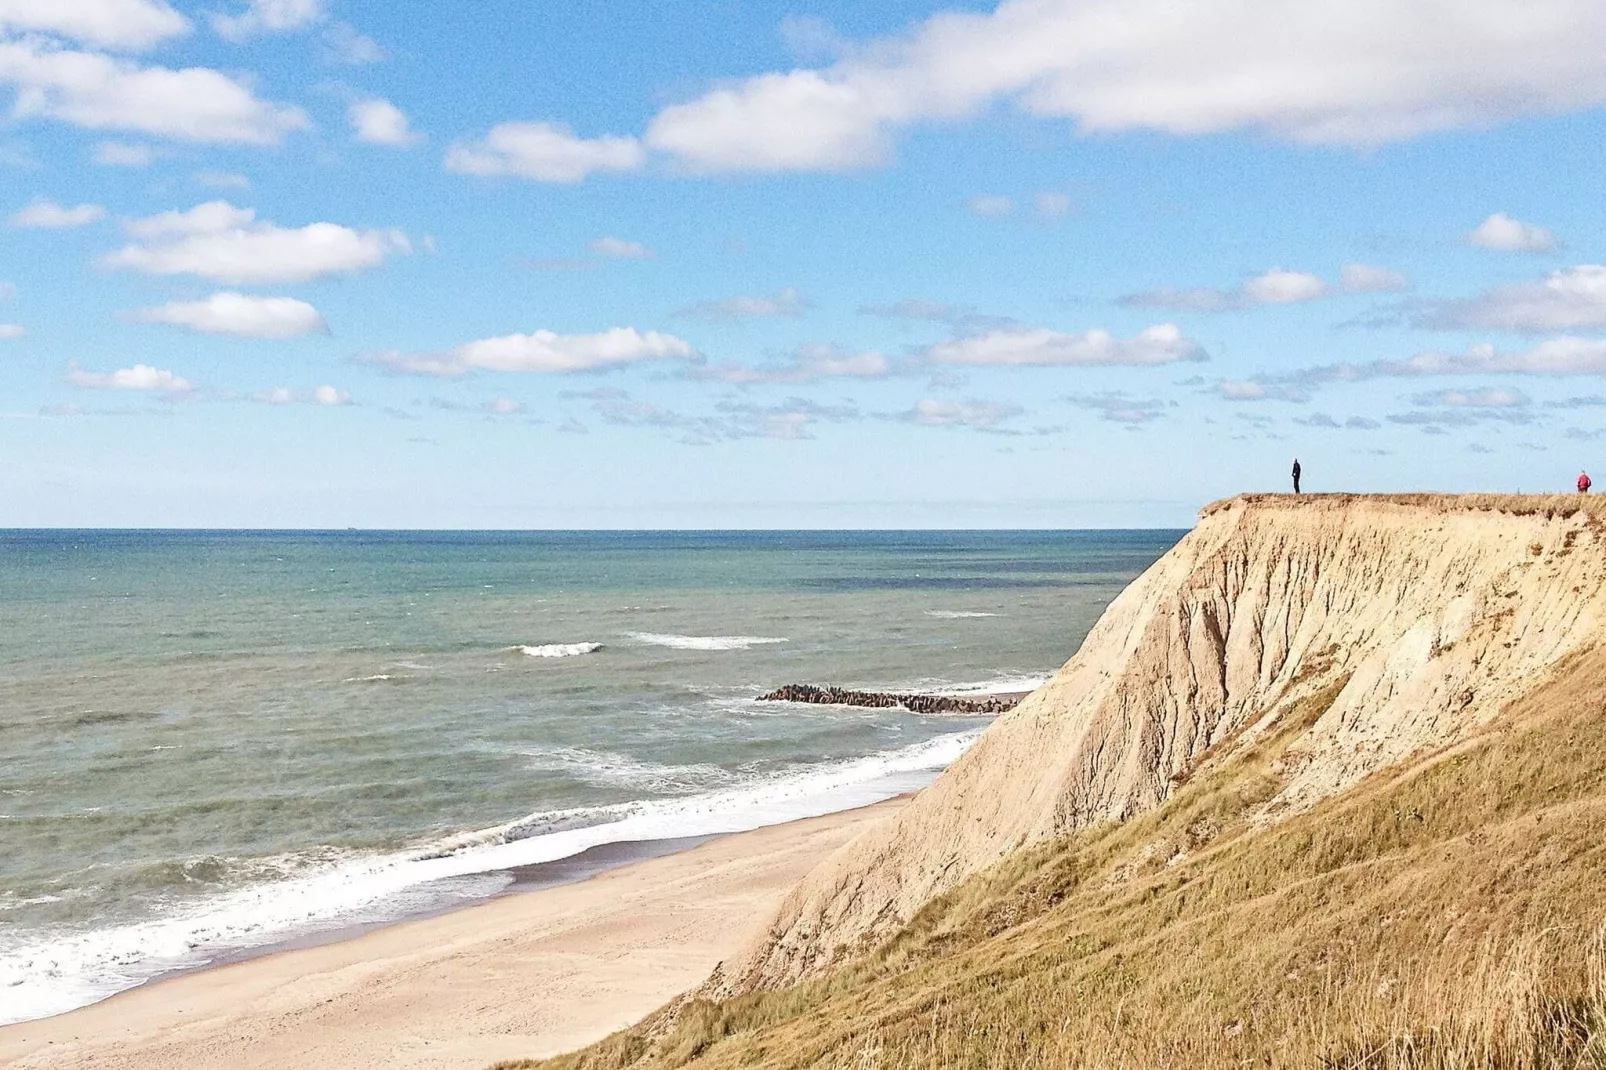
M660 111L692 170L840 170L909 124L1007 101L1081 132L1259 130L1378 145L1606 101L1606 8L1579 0L1005 0Z

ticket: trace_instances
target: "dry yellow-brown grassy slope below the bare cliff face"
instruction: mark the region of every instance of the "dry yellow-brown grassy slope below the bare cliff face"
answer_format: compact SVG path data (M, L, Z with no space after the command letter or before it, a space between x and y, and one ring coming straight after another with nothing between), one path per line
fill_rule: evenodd
M1254 826L1341 683L827 978L511 1065L1606 1067L1606 651L1458 747Z

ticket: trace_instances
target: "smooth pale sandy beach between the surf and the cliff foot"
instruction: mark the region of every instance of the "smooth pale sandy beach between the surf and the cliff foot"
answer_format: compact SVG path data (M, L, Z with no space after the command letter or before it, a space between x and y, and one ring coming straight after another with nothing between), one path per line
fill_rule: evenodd
M145 985L0 1028L0 1067L479 1070L569 1051L700 982L805 871L901 805Z

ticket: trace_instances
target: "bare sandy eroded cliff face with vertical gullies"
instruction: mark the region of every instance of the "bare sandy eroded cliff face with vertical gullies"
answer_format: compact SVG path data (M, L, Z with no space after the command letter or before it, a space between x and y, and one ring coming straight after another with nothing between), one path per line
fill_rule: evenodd
M1561 498L1233 498L1050 683L821 864L713 994L797 980L1021 843L1131 816L1344 680L1264 819L1453 742L1606 622L1606 525ZM1211 749L1211 755L1206 755Z

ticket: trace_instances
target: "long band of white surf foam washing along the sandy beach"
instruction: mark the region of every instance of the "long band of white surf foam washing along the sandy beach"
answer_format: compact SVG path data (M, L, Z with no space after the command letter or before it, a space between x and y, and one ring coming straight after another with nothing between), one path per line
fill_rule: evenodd
M511 880L506 869L599 843L742 832L864 807L928 782L976 734L938 736L686 798L533 813L413 852L313 863L294 877L145 922L26 937L0 932L0 1025L71 1011L230 951L493 895Z

